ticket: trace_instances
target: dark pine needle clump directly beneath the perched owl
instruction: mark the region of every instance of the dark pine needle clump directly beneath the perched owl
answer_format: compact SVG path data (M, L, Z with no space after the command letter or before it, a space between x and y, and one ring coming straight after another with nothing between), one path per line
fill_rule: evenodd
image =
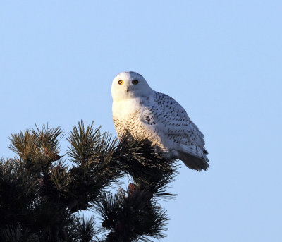
M123 137L113 155L113 159L121 162L125 174L141 189L147 188L157 197L173 196L165 190L177 174L176 160L156 154L146 140L128 140L127 136Z

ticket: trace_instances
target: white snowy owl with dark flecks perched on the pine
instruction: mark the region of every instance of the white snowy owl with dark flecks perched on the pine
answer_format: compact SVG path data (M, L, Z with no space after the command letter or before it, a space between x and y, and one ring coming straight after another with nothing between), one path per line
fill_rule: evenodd
M128 133L138 140L147 139L164 157L180 159L190 169L207 170L204 135L176 100L152 90L133 71L116 75L111 96L118 138Z

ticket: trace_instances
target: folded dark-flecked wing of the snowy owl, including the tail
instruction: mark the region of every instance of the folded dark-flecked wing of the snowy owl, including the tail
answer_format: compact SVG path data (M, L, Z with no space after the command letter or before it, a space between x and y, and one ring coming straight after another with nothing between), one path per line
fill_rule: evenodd
M207 170L209 159L204 148L204 135L189 119L185 109L161 93L147 101L142 112L143 128L158 137L166 150L176 150L176 157L190 169Z

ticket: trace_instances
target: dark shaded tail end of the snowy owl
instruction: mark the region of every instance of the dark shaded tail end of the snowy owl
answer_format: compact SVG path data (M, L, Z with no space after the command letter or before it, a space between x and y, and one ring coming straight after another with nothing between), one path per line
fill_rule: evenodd
M206 171L209 168L209 159L204 155L204 151L195 150L194 147L181 145L182 149L179 152L179 159L190 168L197 171Z

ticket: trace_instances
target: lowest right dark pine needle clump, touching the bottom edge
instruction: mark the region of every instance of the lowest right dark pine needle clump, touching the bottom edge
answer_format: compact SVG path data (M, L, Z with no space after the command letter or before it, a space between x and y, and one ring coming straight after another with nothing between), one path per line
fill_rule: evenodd
M121 189L114 196L105 193L95 210L107 233L104 241L148 241L148 237L165 236L166 211L152 201L152 193L147 190L130 193Z

